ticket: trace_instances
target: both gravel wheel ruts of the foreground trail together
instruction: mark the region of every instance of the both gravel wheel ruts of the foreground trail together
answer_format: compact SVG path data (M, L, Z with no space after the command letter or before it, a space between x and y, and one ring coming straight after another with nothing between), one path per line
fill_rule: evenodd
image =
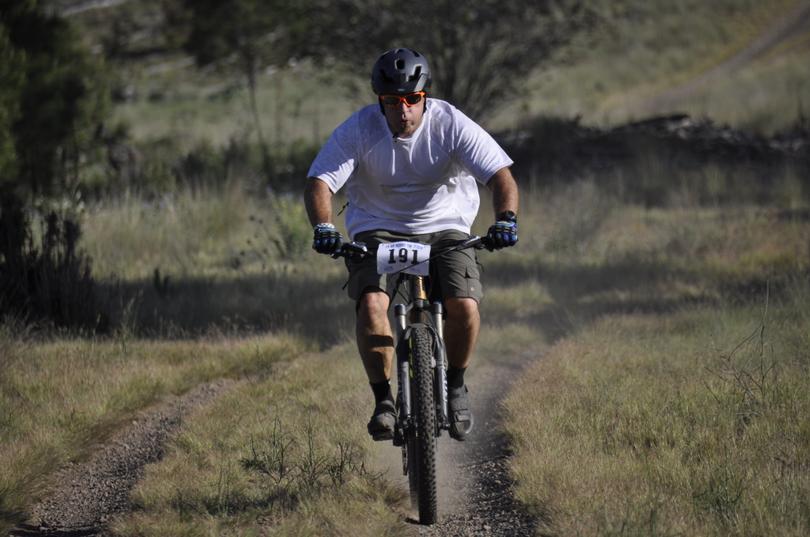
M542 352L478 356L468 373L476 425L466 442L444 435L439 442L439 524L423 527L407 515L412 535L531 536L533 520L512 496L507 470L508 443L500 430L500 401L520 371ZM129 494L147 464L163 456L166 442L185 417L210 404L237 381L219 380L171 397L144 411L82 463L62 469L48 498L37 504L28 524L10 535L63 537L105 535L108 520L130 509ZM407 491L400 450L381 444L388 475Z

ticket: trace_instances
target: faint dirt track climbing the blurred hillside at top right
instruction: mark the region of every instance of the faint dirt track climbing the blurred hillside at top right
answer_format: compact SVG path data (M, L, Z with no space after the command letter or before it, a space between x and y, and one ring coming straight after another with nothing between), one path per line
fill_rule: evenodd
M737 54L705 73L647 99L638 106L638 111L643 116L672 110L682 100L697 94L710 81L743 69L774 50L781 43L808 31L810 31L810 1L804 1L777 20Z

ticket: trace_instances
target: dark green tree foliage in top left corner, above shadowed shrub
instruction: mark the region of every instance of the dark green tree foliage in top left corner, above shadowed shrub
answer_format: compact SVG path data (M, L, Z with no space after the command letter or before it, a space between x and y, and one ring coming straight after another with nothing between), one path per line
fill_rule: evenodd
M11 134L17 163L6 182L31 196L75 189L82 163L99 148L108 111L104 69L73 28L35 0L4 3L0 27L7 36L4 56L12 58L4 68L13 71L19 89L6 103L16 113Z

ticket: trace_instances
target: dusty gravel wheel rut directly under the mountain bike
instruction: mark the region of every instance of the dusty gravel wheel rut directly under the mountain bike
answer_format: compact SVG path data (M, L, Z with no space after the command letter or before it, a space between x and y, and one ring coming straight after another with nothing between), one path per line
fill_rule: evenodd
M532 536L534 521L512 494L507 461L508 442L501 430L500 401L520 371L538 359L537 349L516 356L477 356L467 374L475 430L465 442L439 440L439 523L419 526L409 513L412 535ZM399 448L380 446L389 478L407 491Z

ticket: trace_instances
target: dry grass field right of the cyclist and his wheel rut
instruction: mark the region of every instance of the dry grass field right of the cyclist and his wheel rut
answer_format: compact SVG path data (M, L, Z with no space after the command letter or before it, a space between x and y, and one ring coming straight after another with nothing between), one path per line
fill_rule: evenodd
M804 213L615 205L591 225L576 200L490 302L557 342L505 404L539 532L806 534Z

